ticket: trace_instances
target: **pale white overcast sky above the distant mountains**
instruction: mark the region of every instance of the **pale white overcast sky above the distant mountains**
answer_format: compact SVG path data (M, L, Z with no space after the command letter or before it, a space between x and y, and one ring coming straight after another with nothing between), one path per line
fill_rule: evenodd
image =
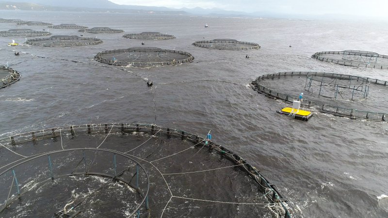
M169 8L219 8L297 15L342 14L388 17L388 0L110 0L116 4Z

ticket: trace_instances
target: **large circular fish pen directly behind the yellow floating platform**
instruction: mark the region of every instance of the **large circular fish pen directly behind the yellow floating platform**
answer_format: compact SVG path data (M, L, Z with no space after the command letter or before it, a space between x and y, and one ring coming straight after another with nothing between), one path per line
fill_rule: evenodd
M322 72L282 72L258 77L252 88L292 103L303 93L302 106L352 119L388 121L388 82Z

